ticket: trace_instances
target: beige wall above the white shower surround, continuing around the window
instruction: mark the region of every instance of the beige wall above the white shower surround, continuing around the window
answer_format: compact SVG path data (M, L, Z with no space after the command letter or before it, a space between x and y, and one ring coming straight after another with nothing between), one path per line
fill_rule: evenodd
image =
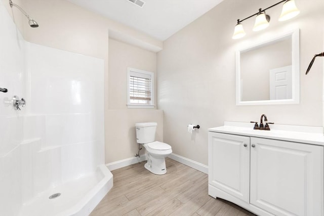
M110 93L117 93L118 96L119 93L121 95L126 93L126 82L120 79L120 77L125 77L126 79L126 73L123 74L126 72L124 68L133 66L155 72L156 54L113 40L111 41L111 49L116 53L112 52L111 59L108 59L108 31L118 32L118 35L124 35L129 40L140 41L139 44L142 43L146 46L162 47L161 41L65 0L14 0L14 3L20 5L38 22L38 28L31 28L28 25L28 20L22 16L17 8L11 9L8 0L1 1L10 14L12 14L13 10L14 20L27 41L104 60L105 75L103 78L105 85L105 145L107 162L129 158L137 153L137 145L133 144L133 141L136 143L134 132L130 129L134 127L134 122L157 121L159 124L157 139L160 141L163 139L162 111L150 110L145 112L142 109L131 111L127 109L109 110L109 108L125 108L126 96L122 100L115 100L116 98L113 96L111 100L109 99L109 95L113 95ZM123 53L123 51L126 52ZM132 55L131 57L128 54L134 54L135 56ZM114 58L114 55L118 55L117 58ZM129 61L125 61L123 57L129 57ZM110 63L111 71L110 68L108 69ZM123 63L123 65L118 65L119 63ZM123 68L123 66L125 67ZM123 84L119 83L119 81L123 81ZM114 135L119 136L116 137ZM131 143L132 145L130 145ZM144 152L142 151L142 153Z

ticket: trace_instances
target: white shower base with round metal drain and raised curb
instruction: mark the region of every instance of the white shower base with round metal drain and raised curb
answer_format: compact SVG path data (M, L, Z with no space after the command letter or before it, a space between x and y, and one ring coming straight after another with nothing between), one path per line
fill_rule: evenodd
M111 172L100 165L94 174L39 193L23 204L19 216L89 215L112 185Z

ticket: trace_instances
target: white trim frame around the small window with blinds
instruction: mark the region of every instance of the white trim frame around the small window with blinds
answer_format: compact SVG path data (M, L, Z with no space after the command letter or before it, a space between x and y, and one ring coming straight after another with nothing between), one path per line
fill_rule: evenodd
M151 77L151 103L150 104L137 104L130 102L130 76L131 72L143 73ZM127 108L154 108L154 73L150 71L140 70L136 68L127 68Z

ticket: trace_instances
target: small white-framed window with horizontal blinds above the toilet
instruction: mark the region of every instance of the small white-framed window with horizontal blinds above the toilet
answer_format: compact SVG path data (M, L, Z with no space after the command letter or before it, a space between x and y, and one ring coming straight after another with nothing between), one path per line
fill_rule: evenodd
M154 108L154 73L128 68L127 79L127 107Z

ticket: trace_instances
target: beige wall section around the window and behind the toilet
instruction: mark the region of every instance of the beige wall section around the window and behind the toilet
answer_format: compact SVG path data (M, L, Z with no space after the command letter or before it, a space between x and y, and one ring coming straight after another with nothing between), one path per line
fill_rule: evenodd
M156 140L163 141L163 111L128 109L127 67L151 71L156 77L156 53L109 38L109 110L105 115L106 163L131 158L138 152L135 123L157 122ZM156 98L156 79L154 80ZM140 152L144 154L145 150Z

